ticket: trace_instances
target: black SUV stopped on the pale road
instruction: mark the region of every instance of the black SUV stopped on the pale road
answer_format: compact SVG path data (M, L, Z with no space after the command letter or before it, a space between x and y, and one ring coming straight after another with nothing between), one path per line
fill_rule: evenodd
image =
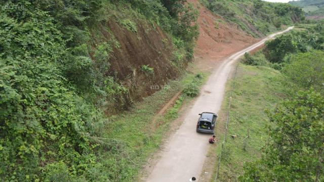
M214 134L217 114L210 112L203 112L199 114L200 117L197 123L197 132Z

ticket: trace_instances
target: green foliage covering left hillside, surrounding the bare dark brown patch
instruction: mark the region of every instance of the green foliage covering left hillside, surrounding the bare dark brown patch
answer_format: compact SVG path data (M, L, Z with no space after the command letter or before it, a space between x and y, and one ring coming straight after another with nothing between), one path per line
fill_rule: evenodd
M113 16L131 32L137 31L135 18L159 25L190 58L196 11L171 5L174 17L160 1L140 0L0 5L0 180L131 180L136 170L120 154L125 146L103 135L107 118L98 111L101 100L116 110L132 104L129 89L108 72L120 45L106 22Z

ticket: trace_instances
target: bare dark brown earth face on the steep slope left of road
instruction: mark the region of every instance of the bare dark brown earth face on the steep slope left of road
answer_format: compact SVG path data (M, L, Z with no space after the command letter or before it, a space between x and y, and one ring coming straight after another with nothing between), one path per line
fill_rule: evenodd
M180 71L185 68L187 60L185 58L179 60L179 65L175 65L173 54L177 49L174 47L170 35L167 35L156 24L156 27L153 27L144 20L134 20L135 22L137 30L132 32L118 22L109 20L106 28L109 27L110 35L107 35L103 29L96 36L105 37L109 41L109 36L113 35L118 41L118 47L112 49L108 60L110 66L106 74L114 76L114 79L119 80L121 85L129 90L132 101L139 101L158 90L151 89L151 85L160 87L168 80L179 76ZM95 44L100 44L100 40ZM179 54L183 53L179 52ZM145 70L145 66L147 70ZM149 72L150 68L152 72ZM105 107L108 109L108 113L113 113L112 109L116 109L115 111L126 109L118 109L115 108L116 106Z

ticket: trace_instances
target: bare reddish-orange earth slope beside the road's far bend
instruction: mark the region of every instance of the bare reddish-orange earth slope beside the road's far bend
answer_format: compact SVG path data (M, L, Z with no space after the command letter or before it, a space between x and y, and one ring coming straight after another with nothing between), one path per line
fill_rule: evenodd
M188 2L194 4L199 11L197 23L200 34L196 41L195 56L203 61L202 65L208 64L210 60L215 62L225 58L257 41L256 38L241 31L237 25L213 14L199 1Z

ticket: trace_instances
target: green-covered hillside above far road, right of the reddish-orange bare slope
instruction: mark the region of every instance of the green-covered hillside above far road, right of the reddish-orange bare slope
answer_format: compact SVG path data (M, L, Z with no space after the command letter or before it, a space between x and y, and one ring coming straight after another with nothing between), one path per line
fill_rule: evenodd
M302 10L283 3L268 3L261 0L201 0L212 12L237 24L253 36L262 36L304 19Z

